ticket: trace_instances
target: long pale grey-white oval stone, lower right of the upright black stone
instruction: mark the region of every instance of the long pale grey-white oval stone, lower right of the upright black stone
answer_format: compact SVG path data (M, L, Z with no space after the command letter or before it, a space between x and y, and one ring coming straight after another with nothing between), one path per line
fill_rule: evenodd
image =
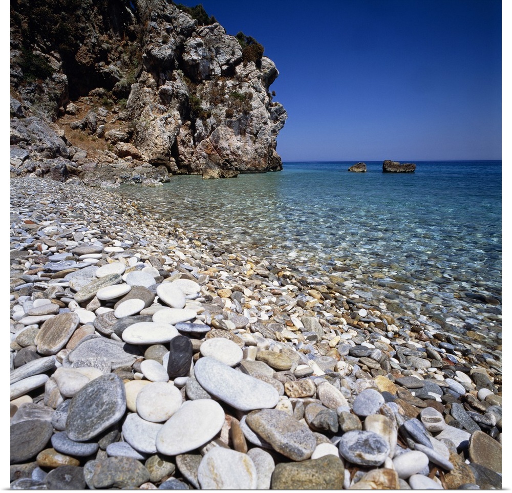
M233 370L214 358L199 358L194 374L206 392L240 411L273 408L279 393L269 383Z

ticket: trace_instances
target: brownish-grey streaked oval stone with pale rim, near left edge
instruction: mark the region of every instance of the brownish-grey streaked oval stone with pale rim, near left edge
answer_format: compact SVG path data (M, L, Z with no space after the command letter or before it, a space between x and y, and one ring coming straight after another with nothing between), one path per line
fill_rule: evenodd
M69 341L80 323L80 317L73 312L61 313L42 324L35 336L37 352L43 355L57 354Z

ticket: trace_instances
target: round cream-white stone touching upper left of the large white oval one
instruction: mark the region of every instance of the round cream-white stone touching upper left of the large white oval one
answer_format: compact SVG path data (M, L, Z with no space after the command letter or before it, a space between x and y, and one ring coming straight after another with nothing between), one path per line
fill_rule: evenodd
M180 390L172 383L152 382L145 385L136 398L137 414L146 421L167 421L183 403Z

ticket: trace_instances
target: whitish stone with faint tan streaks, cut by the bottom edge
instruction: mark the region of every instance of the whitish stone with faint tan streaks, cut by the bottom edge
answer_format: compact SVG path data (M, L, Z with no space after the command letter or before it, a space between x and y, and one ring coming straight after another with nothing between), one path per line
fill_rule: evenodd
M205 454L197 470L201 489L256 489L252 459L229 448L215 447Z

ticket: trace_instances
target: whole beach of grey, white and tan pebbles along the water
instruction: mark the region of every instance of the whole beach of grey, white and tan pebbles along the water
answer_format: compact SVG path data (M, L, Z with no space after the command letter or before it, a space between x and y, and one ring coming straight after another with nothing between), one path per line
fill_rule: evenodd
M11 180L11 489L498 489L501 378L343 283Z

